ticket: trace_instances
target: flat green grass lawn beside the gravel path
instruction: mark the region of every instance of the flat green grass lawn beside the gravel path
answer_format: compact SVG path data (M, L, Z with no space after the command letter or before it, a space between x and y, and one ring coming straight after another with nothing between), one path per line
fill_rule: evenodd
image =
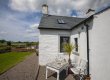
M32 52L8 52L0 54L0 74L23 61Z

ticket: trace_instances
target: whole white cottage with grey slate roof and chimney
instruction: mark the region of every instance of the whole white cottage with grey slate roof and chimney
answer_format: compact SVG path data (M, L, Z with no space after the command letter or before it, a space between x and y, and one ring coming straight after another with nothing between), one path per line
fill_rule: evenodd
M88 18L48 14L43 5L39 24L39 64L45 65L63 54L63 42L78 46L75 52L88 60L87 72L91 80L109 80L110 76L110 7Z

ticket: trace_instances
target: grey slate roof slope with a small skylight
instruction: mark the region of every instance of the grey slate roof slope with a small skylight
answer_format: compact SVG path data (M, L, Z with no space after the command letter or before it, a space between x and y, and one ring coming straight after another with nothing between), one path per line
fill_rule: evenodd
M62 19L65 23L59 24L58 19ZM86 18L67 17L67 16L56 16L43 14L38 29L63 29L70 30L74 26L78 25Z

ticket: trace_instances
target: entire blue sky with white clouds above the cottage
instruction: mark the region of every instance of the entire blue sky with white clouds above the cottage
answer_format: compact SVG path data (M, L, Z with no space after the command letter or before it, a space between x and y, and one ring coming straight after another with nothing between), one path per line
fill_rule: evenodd
M98 12L110 0L0 0L0 39L38 41L43 4L51 15L87 17L88 9Z

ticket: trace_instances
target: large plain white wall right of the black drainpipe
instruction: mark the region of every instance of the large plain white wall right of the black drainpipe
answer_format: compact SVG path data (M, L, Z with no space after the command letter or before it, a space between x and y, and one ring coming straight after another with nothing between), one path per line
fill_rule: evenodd
M110 80L110 9L95 15L90 37L91 80Z

